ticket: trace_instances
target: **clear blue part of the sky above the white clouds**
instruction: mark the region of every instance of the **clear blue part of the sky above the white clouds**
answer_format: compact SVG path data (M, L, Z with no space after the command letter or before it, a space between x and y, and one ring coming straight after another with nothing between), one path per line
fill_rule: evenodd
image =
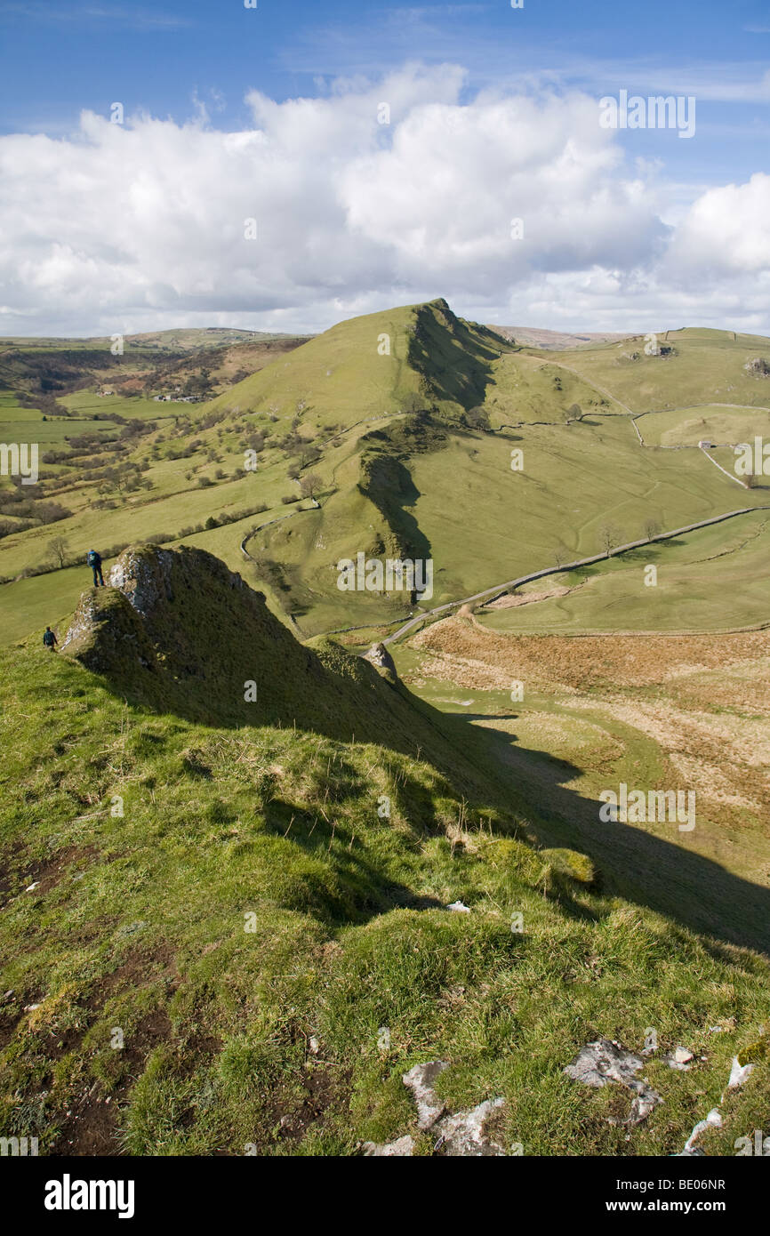
M770 5L758 0L524 0L517 10L509 0L258 0L257 9L239 0L4 0L0 133L77 143L80 114L108 116L116 100L133 117L237 132L253 126L252 90L278 104L328 100L413 63L461 67L457 108L480 93L693 95L692 140L614 135L629 177L649 162L665 182L666 226L697 194L768 171ZM394 293L402 284L410 286L403 269ZM180 302L179 311L190 305ZM319 311L320 302L307 323Z

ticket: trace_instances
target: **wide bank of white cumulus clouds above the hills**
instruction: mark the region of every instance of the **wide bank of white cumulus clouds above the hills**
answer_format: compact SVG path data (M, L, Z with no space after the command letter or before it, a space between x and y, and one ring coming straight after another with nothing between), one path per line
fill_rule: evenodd
M85 112L0 138L0 331L323 329L433 295L501 323L766 325L770 177L664 222L682 187L629 166L587 95L468 99L456 66L409 66L247 104L240 132Z

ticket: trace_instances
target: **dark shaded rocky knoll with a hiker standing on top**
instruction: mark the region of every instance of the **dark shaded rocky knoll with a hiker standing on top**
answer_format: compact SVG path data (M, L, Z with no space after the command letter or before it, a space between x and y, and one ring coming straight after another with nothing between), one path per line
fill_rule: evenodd
M409 751L431 742L384 650L374 667L332 641L307 648L199 549L127 549L108 587L83 593L62 651L131 702L206 724L297 724Z

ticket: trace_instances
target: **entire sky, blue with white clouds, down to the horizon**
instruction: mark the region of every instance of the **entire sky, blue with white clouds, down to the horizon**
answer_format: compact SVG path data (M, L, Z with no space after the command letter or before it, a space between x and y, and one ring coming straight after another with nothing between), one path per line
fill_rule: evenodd
M770 335L769 138L759 0L0 0L0 336Z

